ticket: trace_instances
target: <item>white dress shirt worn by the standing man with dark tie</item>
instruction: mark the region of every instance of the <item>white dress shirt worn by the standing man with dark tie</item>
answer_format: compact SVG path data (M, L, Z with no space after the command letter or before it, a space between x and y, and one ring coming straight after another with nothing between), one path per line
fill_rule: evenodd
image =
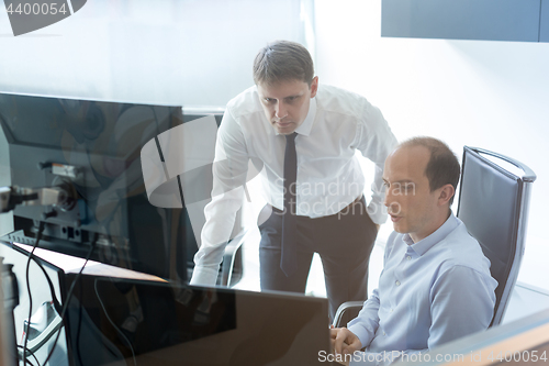
M376 164L368 213L374 223L383 223L386 210L381 177L396 138L380 110L359 95L321 85L295 132L296 214L335 214L362 195L365 177L355 155L358 149ZM206 223L202 245L194 256L192 285L215 284L225 243L243 201L249 162L261 170L266 201L283 210L284 147L285 137L265 115L255 86L228 102L215 148L215 162L224 163L214 164L212 202L204 212Z

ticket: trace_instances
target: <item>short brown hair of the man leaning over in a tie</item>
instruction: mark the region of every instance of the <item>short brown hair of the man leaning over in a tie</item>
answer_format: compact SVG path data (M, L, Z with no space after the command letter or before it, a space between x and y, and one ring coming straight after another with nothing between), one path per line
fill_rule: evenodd
M311 87L313 78L313 58L309 51L296 42L271 42L259 51L254 60L256 85L303 80Z

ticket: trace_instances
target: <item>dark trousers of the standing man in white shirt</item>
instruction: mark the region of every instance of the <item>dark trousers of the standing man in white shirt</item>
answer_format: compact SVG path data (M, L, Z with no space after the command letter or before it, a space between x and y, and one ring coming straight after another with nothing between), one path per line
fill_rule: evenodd
M261 290L304 293L313 254L318 253L330 319L343 302L366 301L368 262L378 231L366 211L363 198L329 217L298 217L298 270L290 277L280 268L282 212L270 206L264 208L264 214L266 210L272 213L259 225Z

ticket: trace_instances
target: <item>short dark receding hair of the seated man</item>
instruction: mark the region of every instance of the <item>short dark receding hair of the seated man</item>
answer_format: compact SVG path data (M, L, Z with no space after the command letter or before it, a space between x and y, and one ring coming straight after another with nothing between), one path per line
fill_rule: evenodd
M424 146L429 151L430 157L425 168L425 175L429 180L430 191L446 185L452 185L456 192L458 191L461 168L456 154L446 143L434 137L419 136L406 140L401 146ZM450 199L450 206L453 202L453 197Z

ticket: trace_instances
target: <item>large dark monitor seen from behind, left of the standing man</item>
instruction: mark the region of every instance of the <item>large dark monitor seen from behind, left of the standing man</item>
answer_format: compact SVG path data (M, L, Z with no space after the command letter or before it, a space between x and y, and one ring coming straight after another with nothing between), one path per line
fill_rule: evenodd
M144 144L181 123L181 107L0 93L12 186L69 193L57 207L16 207L8 240L32 244L43 221L43 247L82 257L99 237L96 260L187 280L197 242L184 202L150 204L139 159Z

